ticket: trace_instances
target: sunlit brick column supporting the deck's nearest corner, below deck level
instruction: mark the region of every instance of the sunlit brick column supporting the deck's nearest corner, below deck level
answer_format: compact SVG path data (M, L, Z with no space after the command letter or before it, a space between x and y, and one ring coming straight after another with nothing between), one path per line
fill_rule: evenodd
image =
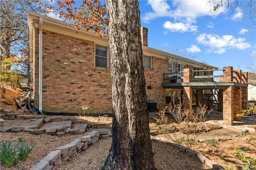
M233 125L234 121L234 86L223 89L223 123Z

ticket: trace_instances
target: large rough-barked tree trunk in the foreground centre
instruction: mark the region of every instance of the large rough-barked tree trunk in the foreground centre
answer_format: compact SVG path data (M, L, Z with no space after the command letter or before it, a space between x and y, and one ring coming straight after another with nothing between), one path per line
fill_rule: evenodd
M153 170L140 12L133 0L106 0L113 97L113 140L103 170Z

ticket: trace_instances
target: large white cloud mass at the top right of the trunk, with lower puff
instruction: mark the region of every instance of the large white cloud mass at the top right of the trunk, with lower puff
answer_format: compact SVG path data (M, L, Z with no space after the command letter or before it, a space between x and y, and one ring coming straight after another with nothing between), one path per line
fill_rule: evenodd
M167 2L172 3L172 7ZM198 26L192 25L192 23L196 23L196 18L216 17L221 12L221 10L211 11L208 0L148 0L148 5L152 7L153 11L146 12L142 16L142 21L148 23L159 17L172 18L174 21L166 21L163 25L172 32L197 31Z

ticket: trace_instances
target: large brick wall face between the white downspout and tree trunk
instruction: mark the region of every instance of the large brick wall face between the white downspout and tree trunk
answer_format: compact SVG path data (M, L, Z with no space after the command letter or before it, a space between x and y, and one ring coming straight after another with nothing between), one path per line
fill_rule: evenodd
M43 30L42 49L44 111L112 113L111 72L94 68L94 42Z

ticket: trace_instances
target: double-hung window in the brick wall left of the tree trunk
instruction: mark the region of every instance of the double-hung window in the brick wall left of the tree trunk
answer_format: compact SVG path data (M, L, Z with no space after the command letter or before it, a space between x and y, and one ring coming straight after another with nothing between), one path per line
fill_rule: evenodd
M95 45L95 67L108 68L107 47Z

